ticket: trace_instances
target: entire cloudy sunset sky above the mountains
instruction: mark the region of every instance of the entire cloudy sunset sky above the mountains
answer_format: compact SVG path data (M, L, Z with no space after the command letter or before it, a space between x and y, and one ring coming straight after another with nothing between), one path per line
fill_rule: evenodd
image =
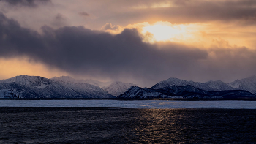
M0 0L0 80L229 83L256 74L255 0Z

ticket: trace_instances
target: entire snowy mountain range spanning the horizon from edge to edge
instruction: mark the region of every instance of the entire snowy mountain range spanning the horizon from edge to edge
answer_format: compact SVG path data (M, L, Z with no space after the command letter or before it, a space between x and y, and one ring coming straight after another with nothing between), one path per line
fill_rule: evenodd
M0 80L0 98L256 98L256 76L224 83L206 83L169 78L151 88L133 83L77 80L69 76L53 77L19 75Z

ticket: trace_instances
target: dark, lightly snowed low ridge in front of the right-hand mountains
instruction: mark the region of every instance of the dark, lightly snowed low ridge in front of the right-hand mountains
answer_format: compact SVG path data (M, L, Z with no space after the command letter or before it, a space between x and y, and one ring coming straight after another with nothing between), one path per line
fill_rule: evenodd
M152 98L256 98L255 94L243 90L230 90L230 91L205 91L193 86L167 86L159 89L140 88L132 86L124 94L118 96L123 99L152 99Z

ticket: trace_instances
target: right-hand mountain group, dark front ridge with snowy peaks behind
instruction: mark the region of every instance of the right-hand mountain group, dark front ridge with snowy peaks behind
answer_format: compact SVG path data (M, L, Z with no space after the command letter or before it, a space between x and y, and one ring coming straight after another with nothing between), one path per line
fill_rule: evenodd
M151 98L256 98L256 76L224 83L221 80L206 83L169 78L151 88L132 86L118 98L151 99Z

